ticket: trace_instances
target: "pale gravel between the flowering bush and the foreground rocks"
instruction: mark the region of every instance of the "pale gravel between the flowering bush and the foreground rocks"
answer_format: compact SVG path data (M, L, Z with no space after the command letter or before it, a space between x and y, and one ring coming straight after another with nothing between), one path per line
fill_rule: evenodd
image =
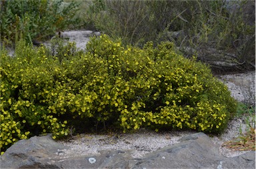
M226 141L239 136L239 131L245 132L247 128L243 118L235 118L229 123L225 133L219 136L210 136L214 144L219 146L223 156L233 157L247 151L234 151L222 146ZM70 149L63 150L63 158L68 156L81 156L99 154L101 150L131 150L133 158L140 158L145 154L159 150L165 146L177 144L183 136L193 134L195 131L169 131L154 132L141 129L129 134L80 134L71 140L59 141Z

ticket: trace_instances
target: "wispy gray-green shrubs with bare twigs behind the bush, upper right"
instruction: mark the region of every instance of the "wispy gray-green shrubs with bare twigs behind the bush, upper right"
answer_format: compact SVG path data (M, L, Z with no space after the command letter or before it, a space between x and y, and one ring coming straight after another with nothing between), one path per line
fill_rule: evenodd
M171 41L215 72L255 70L255 1L95 0L85 13L90 28L124 44Z

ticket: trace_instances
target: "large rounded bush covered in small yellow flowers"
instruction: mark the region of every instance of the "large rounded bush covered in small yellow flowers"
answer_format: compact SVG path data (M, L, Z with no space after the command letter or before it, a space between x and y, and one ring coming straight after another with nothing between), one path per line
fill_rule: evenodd
M60 47L63 56L23 41L15 57L1 51L3 151L26 136L60 138L72 128L221 132L236 112L227 86L207 66L177 55L173 43L139 49L102 35L86 53L73 45Z

